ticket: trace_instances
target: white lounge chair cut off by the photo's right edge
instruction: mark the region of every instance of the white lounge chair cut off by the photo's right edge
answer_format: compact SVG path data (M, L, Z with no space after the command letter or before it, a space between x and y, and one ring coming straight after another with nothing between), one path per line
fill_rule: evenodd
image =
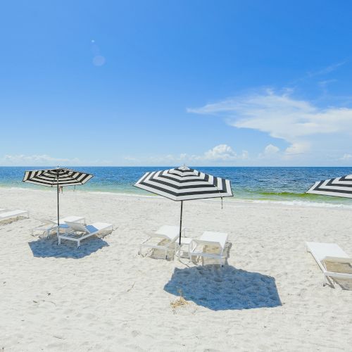
M306 249L310 252L322 270L323 286L331 277L336 279L352 279L352 258L340 246L334 243L306 242ZM330 268L334 265L334 269ZM338 269L338 271L337 271Z

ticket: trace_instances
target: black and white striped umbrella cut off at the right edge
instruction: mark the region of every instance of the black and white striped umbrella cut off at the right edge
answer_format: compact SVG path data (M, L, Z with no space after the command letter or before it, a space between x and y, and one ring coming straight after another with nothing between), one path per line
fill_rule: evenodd
M315 182L306 193L352 198L352 175Z

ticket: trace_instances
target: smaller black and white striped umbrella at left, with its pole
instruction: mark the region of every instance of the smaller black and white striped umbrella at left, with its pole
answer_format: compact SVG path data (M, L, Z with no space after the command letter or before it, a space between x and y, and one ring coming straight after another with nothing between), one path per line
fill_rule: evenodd
M61 186L76 186L88 182L93 175L85 172L55 168L49 170L32 170L25 171L23 182L39 184L46 187L56 187L57 196L59 187ZM59 218L59 199L58 199L58 226L60 226Z

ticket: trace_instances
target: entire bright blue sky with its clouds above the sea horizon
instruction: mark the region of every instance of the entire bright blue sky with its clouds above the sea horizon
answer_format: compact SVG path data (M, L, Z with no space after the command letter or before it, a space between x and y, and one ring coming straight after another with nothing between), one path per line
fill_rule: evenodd
M0 165L351 165L349 1L7 1Z

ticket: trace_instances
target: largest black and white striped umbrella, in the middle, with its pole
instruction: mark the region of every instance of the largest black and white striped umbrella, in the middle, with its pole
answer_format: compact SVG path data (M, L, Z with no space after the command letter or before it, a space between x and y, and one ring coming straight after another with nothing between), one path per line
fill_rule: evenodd
M230 180L182 166L170 170L146 172L135 187L181 201L180 243L183 201L233 196Z

